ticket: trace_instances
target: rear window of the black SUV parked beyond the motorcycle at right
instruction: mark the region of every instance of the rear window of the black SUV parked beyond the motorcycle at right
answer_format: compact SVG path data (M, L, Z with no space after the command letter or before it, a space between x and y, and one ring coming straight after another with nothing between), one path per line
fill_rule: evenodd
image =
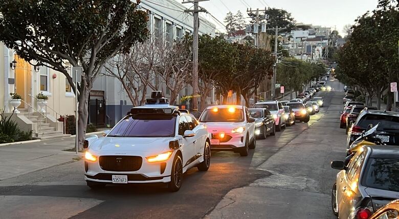
M376 114L366 114L362 118L360 118L358 126L362 128L367 128L369 124L373 126L377 125L378 131L384 130L399 130L399 116L390 116L390 115L376 115Z

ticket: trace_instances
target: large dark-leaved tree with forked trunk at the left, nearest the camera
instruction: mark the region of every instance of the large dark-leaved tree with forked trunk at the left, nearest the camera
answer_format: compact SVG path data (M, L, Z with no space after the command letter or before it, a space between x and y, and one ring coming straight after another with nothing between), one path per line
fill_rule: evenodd
M24 60L62 72L79 100L79 148L82 148L88 95L104 64L118 53L129 53L147 38L146 12L130 0L3 0L0 41ZM64 66L82 66L76 91Z

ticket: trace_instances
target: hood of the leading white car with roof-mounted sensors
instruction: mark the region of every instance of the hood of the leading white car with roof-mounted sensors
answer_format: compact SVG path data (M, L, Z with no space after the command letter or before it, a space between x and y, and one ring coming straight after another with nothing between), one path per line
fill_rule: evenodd
M98 152L154 152L165 151L169 149L169 141L173 137L103 137L99 138L89 150Z

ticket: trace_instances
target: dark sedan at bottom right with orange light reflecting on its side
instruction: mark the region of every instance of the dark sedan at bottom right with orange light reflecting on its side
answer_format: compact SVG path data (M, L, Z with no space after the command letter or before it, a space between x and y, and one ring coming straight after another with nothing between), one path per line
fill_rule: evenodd
M399 197L399 150L371 145L351 156L348 165L331 162L341 170L331 191L331 207L339 218L369 218Z

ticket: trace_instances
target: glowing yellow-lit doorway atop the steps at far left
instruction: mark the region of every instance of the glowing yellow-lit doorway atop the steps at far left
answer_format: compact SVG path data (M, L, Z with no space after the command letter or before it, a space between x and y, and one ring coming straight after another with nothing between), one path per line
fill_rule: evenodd
M28 102L30 99L29 95L32 95L32 66L17 55L14 55L14 59L17 62L14 70L14 92L21 95L25 102ZM27 108L27 106L22 102L18 108Z

